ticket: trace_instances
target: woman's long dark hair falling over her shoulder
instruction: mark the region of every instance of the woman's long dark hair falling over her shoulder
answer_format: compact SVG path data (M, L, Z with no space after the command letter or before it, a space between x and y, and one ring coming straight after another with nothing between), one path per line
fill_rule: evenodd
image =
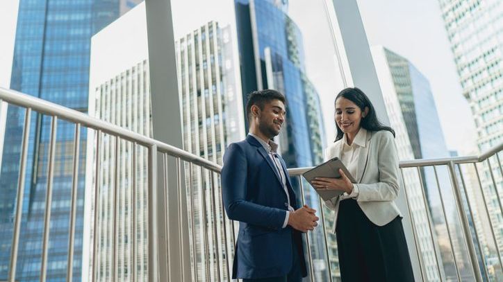
M365 130L369 131L379 131L379 130L388 130L393 134L393 137L395 136L395 130L389 126L384 126L381 122L379 122L379 119L377 119L377 115L375 114L375 109L372 103L370 102L370 99L361 91L360 89L354 87L354 88L346 88L343 91L340 91L339 94L336 96L336 101L338 98L346 98L347 100L352 101L356 106L358 106L362 112L365 111L365 107L368 107L368 114L365 116L365 118L361 119L360 126L365 128ZM334 102L335 103L335 102ZM337 125L336 121L336 127L337 127L337 137L336 141L340 140L344 136L343 130L340 130L339 125Z

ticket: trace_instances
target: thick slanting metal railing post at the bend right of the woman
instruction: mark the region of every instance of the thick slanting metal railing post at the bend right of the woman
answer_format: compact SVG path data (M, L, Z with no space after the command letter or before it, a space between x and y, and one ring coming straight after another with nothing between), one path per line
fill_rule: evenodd
M482 274L480 272L475 246L473 245L472 233L470 232L470 225L468 224L468 216L465 213L465 209L463 209L463 198L461 197L461 192L459 191L458 179L456 177L456 171L454 170L454 162L450 161L447 166L449 167L449 174L452 179L452 188L454 189L456 208L458 209L459 215L461 215L461 226L463 227L465 242L468 247L468 254L470 254L470 264L472 265L473 276L475 277L475 281L481 282Z

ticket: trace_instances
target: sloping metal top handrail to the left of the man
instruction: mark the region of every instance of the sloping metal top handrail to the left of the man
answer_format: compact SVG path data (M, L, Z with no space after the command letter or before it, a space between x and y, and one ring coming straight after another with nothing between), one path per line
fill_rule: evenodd
M166 143L157 141L156 139L151 139L142 134L132 132L130 130L125 130L124 128L114 125L112 123L107 123L106 121L101 121L98 118L84 114L83 112L76 111L74 109L69 109L55 103L51 103L47 100L42 100L40 98L35 98L27 94L22 94L18 91L11 89L5 89L0 87L0 99L6 103L13 105L18 105L21 107L30 107L35 112L41 114L47 114L50 116L58 116L59 119L70 121L73 123L81 123L85 127L90 127L94 130L101 130L103 133L108 133L113 136L120 136L121 139L127 141L136 142L142 146L151 147L157 146L158 152L165 152L170 156L179 157L183 161L190 161L192 164L197 164L199 166L204 166L209 170L213 170L216 173L220 173L222 169L221 166L213 164L211 161L192 155L189 152L185 152L180 148L168 145Z

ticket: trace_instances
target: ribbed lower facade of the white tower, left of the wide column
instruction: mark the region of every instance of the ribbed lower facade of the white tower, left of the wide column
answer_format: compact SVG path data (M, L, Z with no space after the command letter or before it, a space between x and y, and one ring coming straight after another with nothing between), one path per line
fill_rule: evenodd
M150 92L148 62L143 60L131 68L117 73L94 89L94 116L120 127L145 136L152 136L150 117ZM92 97L92 96L90 96ZM116 146L118 146L116 148ZM114 237L117 240L117 278L132 279L133 257L131 243L133 236L138 244L136 249L136 273L138 281L147 281L147 164L146 148L138 146L136 167L133 166L133 144L124 140L116 143L115 137L104 134L101 137L100 193L98 224L97 267L98 281L113 279L112 252ZM117 149L117 151L116 151ZM88 158L93 159L92 155ZM135 170L135 171L134 171ZM136 173L136 194L133 195L133 172ZM117 177L118 176L118 177ZM113 205L117 200L117 208ZM132 222L132 201L137 206L136 222ZM114 218L114 213L117 214ZM113 223L117 221L117 230ZM137 230L133 234L133 224ZM92 265L92 263L90 263Z

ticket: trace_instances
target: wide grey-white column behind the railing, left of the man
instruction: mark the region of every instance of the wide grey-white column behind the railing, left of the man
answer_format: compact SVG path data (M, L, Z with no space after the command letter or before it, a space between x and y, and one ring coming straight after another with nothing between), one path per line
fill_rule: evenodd
M178 82L176 76L176 53L174 49L174 33L172 23L171 3L169 0L147 0L147 36L149 42L149 67L151 109L154 139L168 143L178 148L183 148L183 136L180 115L180 100ZM162 158L158 158L158 223L164 221L163 198L164 179ZM183 168L183 166L182 166ZM168 165L168 209L170 218L167 218L168 228L165 234L164 224L158 225L158 250L159 255L159 278L160 281L190 281L190 247L188 239L188 219L185 204L179 206L177 195L176 164L170 158ZM182 170L182 179L185 179ZM182 199L185 200L185 181L181 181ZM181 215L182 240L179 238L179 215ZM149 215L150 216L150 215ZM151 227L149 227L151 229ZM170 261L167 273L166 261L161 250L164 249L165 236L170 238ZM183 252L183 253L182 253ZM183 254L183 263L180 261ZM149 262L149 267L152 265ZM182 267L183 266L183 267ZM182 280L183 276L183 280ZM149 279L150 280L150 279Z

